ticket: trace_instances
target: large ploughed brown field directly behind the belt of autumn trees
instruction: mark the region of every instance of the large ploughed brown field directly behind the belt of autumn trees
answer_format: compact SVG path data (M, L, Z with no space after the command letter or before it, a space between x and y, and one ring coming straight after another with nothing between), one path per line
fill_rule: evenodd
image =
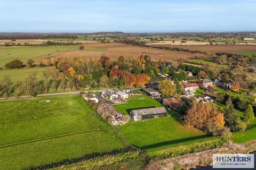
M85 47L96 48L99 50L63 50L59 53L55 53L49 56L45 56L37 62L45 61L47 58L58 58L58 57L78 57L92 60L94 58L100 58L102 54L110 57L112 60L117 60L119 56L134 57L137 58L141 55L149 55L152 60L177 60L180 58L195 57L197 54L191 54L187 52L178 52L174 50L164 50L151 47L140 47L132 46L123 43L98 43L98 44L84 44Z

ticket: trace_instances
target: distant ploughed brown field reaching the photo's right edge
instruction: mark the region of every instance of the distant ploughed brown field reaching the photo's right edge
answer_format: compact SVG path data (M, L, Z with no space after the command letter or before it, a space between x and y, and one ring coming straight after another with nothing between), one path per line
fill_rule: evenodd
M155 46L155 45L154 45ZM256 52L256 45L159 45L167 47L178 47L189 50L199 50L201 52L226 52L226 53L246 53Z

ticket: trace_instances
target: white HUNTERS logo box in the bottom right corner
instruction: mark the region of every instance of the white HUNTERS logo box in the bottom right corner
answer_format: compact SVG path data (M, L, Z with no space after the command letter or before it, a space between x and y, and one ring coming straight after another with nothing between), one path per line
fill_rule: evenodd
M213 154L213 168L254 168L254 154Z

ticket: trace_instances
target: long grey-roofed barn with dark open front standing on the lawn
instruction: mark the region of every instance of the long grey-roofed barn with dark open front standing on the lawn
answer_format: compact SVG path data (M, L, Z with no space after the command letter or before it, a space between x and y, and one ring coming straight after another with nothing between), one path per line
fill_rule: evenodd
M166 117L167 112L164 107L136 109L130 112L134 121L147 120L150 118Z

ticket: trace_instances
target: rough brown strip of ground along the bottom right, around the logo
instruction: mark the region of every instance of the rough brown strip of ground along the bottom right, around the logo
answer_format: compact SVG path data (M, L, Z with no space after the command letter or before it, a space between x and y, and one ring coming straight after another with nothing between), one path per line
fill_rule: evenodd
M179 156L169 159L158 159L152 160L145 168L145 170L150 169L162 169L169 170L174 169L178 165L182 169L196 168L196 166L212 166L212 154L235 154L243 153L247 154L256 150L256 141L251 141L248 143L233 143L229 142L221 148L215 148L211 150L206 150L202 152L197 152L185 156Z

